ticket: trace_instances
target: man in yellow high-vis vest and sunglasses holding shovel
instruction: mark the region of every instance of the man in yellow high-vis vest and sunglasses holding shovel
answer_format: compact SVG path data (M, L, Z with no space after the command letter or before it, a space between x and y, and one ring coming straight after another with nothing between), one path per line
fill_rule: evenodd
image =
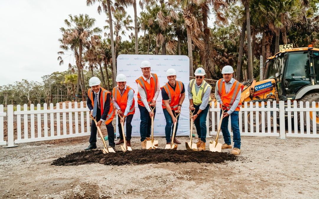
M206 73L203 68L197 68L194 75L196 79L192 79L188 84L189 108L195 110L192 118L198 135L197 150L204 151L207 133L206 117L211 102L211 85L204 80Z

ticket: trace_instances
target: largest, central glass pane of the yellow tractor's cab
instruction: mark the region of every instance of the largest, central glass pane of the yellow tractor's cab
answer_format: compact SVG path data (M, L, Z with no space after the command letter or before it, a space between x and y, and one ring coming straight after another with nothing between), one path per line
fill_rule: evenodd
M286 96L296 95L301 88L311 83L309 63L308 51L288 54L283 80Z

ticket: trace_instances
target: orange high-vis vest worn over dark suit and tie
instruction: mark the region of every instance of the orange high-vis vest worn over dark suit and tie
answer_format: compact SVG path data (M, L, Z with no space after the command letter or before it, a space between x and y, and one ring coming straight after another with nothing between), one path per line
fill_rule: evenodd
M101 116L102 116L103 110L104 110L104 104L105 104L105 101L107 99L107 95L108 95L108 93L111 93L111 92L109 92L106 89L103 89L102 87L101 87L101 89L102 89L102 91L101 91L99 97L100 97ZM89 96L89 98L92 102L92 106L94 107L94 98L95 98L94 91L92 89L89 89L87 91L87 95ZM94 97L93 97L93 95L94 95ZM98 104L95 104L95 105L98 105ZM110 110L108 111L108 115L106 117L105 124L110 124L110 122L112 122L112 120L114 118L114 115L115 115L115 111L113 108L113 100L110 99Z

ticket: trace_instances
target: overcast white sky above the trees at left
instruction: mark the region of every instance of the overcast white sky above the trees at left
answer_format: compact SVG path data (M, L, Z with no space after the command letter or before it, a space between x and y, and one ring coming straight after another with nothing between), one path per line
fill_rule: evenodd
M99 15L97 7L86 6L85 0L0 0L0 85L41 82L41 76L67 70L70 59L62 66L57 60L60 27L66 27L69 14L88 14L103 30L107 16ZM128 12L133 18L133 9Z

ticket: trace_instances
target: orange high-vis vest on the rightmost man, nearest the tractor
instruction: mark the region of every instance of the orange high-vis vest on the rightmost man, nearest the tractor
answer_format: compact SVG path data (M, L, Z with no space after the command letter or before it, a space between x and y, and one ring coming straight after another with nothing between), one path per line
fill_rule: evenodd
M218 80L218 82L216 83L216 86L217 86L221 101L227 107L227 110L229 110L229 107L233 105L238 92L244 89L244 85L242 85L240 82L235 80L229 93L226 94L225 82L223 80L224 80L223 78ZM239 111L240 107L241 107L241 102L238 103L238 106L236 107L235 111Z

